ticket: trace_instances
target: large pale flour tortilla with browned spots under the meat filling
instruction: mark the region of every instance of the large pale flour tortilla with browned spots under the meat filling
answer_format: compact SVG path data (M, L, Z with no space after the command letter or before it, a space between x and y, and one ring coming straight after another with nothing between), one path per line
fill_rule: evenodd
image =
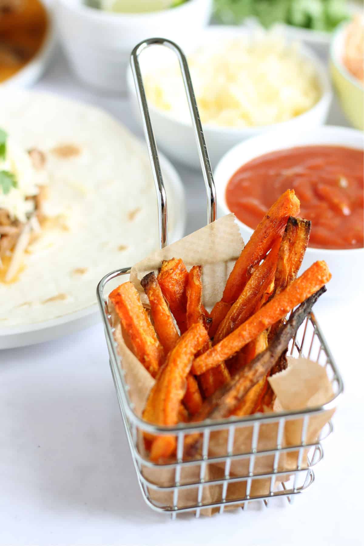
M100 278L158 248L146 146L104 111L45 93L0 92L0 127L45 153L51 222L19 281L0 282L0 329L57 318L96 302ZM62 156L63 153L63 156ZM174 199L166 177L169 228Z

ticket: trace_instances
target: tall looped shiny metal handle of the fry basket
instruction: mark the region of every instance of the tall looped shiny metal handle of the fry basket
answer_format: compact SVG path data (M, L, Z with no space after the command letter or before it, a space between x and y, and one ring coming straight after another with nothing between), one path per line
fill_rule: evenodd
M210 159L206 149L204 132L202 131L200 115L196 104L195 93L193 91L191 76L187 64L186 56L181 48L171 40L165 38L148 38L141 41L130 55L130 65L132 67L136 96L138 97L139 108L141 112L145 139L147 141L148 154L151 162L154 185L156 186L158 200L158 225L160 248L168 245L168 214L167 214L167 196L163 183L162 171L160 170L156 139L154 138L151 118L149 115L147 98L143 79L140 71L139 55L142 51L151 45L163 45L175 52L180 63L184 89L186 91L189 111L192 120L192 126L198 147L202 174L204 175L206 195L207 195L207 223L216 220L216 189L213 181Z

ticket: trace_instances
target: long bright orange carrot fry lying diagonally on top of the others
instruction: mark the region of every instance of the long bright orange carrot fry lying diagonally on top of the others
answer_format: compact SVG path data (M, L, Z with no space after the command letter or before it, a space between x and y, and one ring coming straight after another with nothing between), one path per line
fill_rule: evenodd
M317 292L326 282L330 281L330 278L329 268L327 268L323 260L312 264L281 294L268 301L264 307L222 341L219 341L217 345L197 357L192 365L192 373L201 375L201 373L210 370L240 351L242 347L252 341L263 330L285 317L296 305Z

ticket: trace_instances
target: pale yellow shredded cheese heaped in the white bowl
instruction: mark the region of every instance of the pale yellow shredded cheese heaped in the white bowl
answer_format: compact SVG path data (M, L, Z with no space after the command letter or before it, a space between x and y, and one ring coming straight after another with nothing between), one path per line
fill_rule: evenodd
M208 44L188 58L202 123L264 126L290 120L320 98L315 68L274 32ZM178 64L144 76L148 100L179 120L189 120Z

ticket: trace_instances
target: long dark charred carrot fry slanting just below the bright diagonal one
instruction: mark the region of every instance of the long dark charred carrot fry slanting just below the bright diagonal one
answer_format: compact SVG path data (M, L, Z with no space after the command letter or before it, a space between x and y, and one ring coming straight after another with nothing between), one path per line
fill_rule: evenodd
M207 417L210 419L228 417L248 391L269 373L279 355L287 348L290 339L311 311L315 301L324 292L326 292L326 288L323 286L297 307L270 346L238 371L230 383L216 391L210 399L205 400L201 411L193 417L192 421L199 421Z

